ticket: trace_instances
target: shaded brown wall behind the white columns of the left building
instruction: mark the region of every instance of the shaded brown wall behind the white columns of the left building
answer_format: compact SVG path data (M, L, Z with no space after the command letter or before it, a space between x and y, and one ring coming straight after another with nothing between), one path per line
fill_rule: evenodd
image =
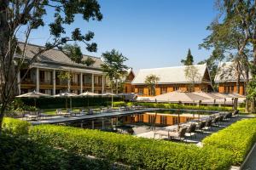
M58 78L58 72L60 71L55 70L54 73L53 69L32 68L30 71L28 71L23 81L20 82L20 94L26 94L37 89L39 92L44 94L60 94L67 92L68 83L70 83L70 92L75 94L80 94L81 92L85 91L93 91L101 94L102 91L108 90L106 86L106 78L102 79L102 75L92 76L91 73L72 72L71 80L67 81L60 80ZM20 70L20 79L24 77L25 74L26 70ZM94 77L94 81L92 81L92 77Z

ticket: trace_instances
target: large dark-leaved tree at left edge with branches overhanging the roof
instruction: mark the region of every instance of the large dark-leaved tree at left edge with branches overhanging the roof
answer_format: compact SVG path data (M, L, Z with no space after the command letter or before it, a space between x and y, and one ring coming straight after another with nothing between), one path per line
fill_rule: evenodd
M45 48L40 48L31 59L26 58L26 45L31 32L36 32L45 25L45 14L54 11L53 20L49 20L50 37L45 42ZM88 51L96 51L96 43L90 42L93 32L82 33L79 28L66 30L65 26L72 25L76 14L81 14L85 21L102 20L100 5L96 0L67 1L67 0L1 0L0 1L0 127L2 127L4 111L17 94L17 75L25 63L30 67L52 48L61 48L66 42L84 42ZM69 26L70 27L70 26ZM24 32L23 45L20 47L17 34ZM67 35L71 35L68 37ZM16 61L15 61L16 57ZM25 76L24 76L25 77ZM21 81L24 77L21 77Z

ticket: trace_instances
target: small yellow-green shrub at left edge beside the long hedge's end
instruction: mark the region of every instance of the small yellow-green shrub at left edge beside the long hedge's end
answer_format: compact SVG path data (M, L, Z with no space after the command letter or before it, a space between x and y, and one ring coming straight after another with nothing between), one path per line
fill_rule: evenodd
M28 133L28 129L31 126L30 122L21 121L19 119L4 117L3 118L3 132L11 133L14 135L24 135Z

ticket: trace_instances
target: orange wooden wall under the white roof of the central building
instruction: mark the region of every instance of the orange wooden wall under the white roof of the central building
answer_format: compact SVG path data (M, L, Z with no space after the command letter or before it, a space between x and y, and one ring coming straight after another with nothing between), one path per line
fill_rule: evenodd
M192 84L165 84L165 85L157 85L155 88L155 95L166 94L172 91L180 90L182 92L188 92L189 90L193 91ZM210 84L208 83L201 83L195 84L194 91L203 91L208 92L210 88ZM140 90L141 89L141 90ZM143 89L143 90L142 90ZM143 94L140 93L143 91ZM148 87L145 85L134 85L134 93L139 94L140 96L149 96Z

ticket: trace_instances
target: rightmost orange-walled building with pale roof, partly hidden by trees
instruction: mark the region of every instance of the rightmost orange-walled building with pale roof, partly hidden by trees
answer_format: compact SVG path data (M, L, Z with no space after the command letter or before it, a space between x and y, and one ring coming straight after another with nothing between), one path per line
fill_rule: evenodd
M238 94L245 94L245 78L244 72L240 76ZM237 71L234 62L224 62L218 65L218 71L214 81L218 84L218 93L232 94L237 93ZM249 79L251 79L249 75Z

